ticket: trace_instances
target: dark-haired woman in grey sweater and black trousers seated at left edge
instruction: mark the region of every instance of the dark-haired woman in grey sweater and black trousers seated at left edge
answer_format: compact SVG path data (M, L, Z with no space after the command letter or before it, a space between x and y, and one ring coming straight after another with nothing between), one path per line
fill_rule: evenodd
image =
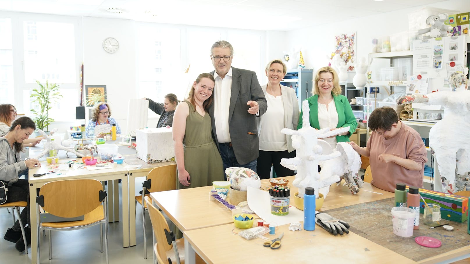
M0 180L8 184L7 202L28 202L28 206L20 214L22 223L28 224L24 228L28 244L31 244L29 184L28 180L18 179L18 174L26 168L41 165L37 159L24 161L20 157L20 151L23 151L23 141L27 140L35 129L36 125L31 118L23 116L16 119L8 133L0 138ZM8 228L4 239L16 243L16 250L24 251L24 241L18 221Z

